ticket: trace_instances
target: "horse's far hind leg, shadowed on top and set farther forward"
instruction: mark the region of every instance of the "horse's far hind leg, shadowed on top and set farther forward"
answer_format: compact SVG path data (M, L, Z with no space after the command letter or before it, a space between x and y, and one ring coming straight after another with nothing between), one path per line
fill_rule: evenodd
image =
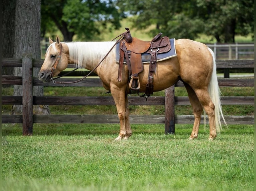
M194 139L194 138L198 137L198 130L199 130L200 122L201 122L203 106L200 103L195 91L186 83L184 83L184 86L187 90L188 98L189 98L189 101L190 101L191 106L193 108L193 114L195 116L193 130L192 130L191 135L189 137L189 139Z

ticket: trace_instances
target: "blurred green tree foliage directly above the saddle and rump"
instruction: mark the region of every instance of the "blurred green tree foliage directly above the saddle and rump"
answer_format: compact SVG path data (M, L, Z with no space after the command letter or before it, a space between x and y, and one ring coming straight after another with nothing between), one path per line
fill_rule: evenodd
M155 25L149 31L154 36L159 31L169 37L195 39L203 26L195 17L190 19L188 15L195 9L196 0L117 0L120 10L133 15L133 27L146 29Z

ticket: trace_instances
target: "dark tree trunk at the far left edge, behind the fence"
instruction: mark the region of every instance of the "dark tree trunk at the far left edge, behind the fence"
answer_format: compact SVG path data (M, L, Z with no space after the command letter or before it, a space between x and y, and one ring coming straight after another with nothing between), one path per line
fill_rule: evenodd
M2 0L2 58L13 58L16 0ZM2 75L12 75L13 67L2 68ZM4 85L4 87L9 85Z

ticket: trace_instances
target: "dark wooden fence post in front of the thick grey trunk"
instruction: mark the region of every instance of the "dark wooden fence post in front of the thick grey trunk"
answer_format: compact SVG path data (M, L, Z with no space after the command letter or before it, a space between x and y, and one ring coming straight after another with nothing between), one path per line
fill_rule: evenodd
M32 54L22 55L22 134L33 133L33 59Z

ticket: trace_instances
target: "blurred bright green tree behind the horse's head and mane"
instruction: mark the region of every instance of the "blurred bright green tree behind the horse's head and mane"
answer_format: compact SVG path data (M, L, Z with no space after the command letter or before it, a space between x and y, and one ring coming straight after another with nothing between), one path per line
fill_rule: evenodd
M122 17L112 0L42 0L41 31L51 32L47 23L54 22L65 41L75 34L80 40L95 40L108 23L108 30L119 28Z

